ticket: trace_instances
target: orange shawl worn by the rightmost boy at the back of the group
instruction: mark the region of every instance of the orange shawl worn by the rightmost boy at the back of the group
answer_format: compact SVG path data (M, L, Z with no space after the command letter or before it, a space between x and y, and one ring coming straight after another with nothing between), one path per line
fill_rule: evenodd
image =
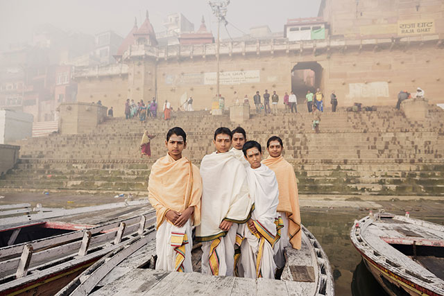
M276 174L279 187L278 211L287 213L289 218L289 238L294 249L300 249L300 211L298 198L298 183L294 168L282 157L271 157L262 161Z

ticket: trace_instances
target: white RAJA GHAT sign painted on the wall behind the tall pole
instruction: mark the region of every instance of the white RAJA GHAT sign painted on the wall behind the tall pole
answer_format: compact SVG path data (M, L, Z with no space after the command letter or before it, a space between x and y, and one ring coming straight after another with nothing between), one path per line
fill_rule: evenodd
M259 70L250 71L227 71L219 73L219 82L221 85L240 85L241 83L252 83L260 81ZM203 74L204 85L216 84L216 72Z

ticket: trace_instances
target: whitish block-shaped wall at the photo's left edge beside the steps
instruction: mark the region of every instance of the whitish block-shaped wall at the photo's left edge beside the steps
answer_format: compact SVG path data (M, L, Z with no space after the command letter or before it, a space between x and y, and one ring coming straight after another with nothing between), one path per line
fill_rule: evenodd
M21 111L0 110L0 144L31 137L33 115Z

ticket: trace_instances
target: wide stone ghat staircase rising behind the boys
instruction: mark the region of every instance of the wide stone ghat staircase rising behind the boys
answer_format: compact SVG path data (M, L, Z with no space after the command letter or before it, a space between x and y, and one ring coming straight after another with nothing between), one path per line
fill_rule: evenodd
M425 123L411 123L393 108L377 112L324 112L321 133L307 113L252 116L243 127L248 139L266 145L278 134L295 167L300 193L444 195L444 112L429 110ZM199 164L212 153L219 126L234 128L228 116L207 112L176 114L171 121L111 119L91 134L19 141L19 164L0 180L2 191L73 191L146 194L150 168L165 155L165 134L187 132L185 156ZM153 158L139 158L144 130ZM266 156L266 155L265 155Z

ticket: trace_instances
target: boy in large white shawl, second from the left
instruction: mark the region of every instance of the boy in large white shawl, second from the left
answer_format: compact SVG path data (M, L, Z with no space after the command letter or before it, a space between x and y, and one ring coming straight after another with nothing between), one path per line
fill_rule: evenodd
M228 151L231 141L231 131L218 128L216 152L200 163L203 193L196 241L202 242L202 272L207 275L233 275L238 223L246 223L253 211L245 167Z

